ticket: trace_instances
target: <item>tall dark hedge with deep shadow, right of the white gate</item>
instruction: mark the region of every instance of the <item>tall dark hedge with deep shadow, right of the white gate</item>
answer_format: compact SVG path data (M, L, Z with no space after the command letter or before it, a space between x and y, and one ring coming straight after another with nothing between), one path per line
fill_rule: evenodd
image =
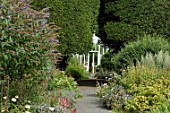
M170 39L169 0L101 0L99 36L112 48L143 34Z

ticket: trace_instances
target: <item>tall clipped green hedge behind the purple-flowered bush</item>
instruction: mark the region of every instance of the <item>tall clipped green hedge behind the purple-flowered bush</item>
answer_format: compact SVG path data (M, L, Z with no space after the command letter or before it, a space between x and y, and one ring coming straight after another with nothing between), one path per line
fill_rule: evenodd
M99 0L32 0L37 9L50 7L50 21L60 30L62 53L84 53L92 48L96 30Z

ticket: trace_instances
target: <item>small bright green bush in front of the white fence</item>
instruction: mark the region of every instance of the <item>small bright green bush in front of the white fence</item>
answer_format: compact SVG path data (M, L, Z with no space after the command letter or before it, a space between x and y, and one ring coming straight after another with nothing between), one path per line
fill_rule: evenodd
M88 78L88 73L86 72L85 67L75 58L69 59L65 72L75 80Z

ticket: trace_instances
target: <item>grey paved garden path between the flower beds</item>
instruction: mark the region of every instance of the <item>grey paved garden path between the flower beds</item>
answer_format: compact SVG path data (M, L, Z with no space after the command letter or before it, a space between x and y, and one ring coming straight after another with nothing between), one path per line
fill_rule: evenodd
M109 113L96 96L96 87L78 86L83 98L76 104L77 113Z

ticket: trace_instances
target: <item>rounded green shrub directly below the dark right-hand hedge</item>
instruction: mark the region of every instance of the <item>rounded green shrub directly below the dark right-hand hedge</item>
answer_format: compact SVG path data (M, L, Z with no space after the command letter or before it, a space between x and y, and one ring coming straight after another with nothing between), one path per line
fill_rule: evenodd
M126 69L129 64L136 64L136 61L140 60L146 52L153 54L160 50L170 52L169 47L168 41L161 36L145 35L142 39L126 44L117 55L112 57L113 70L120 73L121 69Z

